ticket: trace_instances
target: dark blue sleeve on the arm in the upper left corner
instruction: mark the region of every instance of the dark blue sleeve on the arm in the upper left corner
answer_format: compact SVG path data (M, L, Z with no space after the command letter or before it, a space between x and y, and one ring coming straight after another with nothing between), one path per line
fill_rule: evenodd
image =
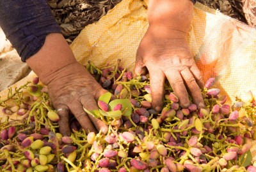
M40 50L47 34L61 33L45 0L0 0L0 26L23 62Z

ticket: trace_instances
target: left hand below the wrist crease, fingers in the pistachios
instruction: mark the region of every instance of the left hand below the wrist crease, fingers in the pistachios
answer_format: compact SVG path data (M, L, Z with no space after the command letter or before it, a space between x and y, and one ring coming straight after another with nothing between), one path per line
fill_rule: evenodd
M102 120L88 115L83 107L88 110L98 109L97 99L107 92L99 83L78 64L70 64L56 73L54 79L48 83L48 92L54 108L60 115L60 132L63 135L70 134L68 125L69 114L72 113L83 129L94 131L100 129L105 133L108 127Z

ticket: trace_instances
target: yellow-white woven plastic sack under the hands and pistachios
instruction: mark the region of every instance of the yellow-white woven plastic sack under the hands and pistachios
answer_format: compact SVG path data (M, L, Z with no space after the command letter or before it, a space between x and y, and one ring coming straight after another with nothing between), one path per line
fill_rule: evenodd
M199 3L195 4L193 15L188 42L204 80L215 77L214 87L228 95L229 101L248 90L256 94L256 29ZM122 59L122 66L132 70L147 27L147 2L123 0L99 22L83 29L71 48L81 64L90 60L102 66ZM19 87L33 76L13 86ZM7 92L4 90L0 96ZM252 154L255 159L255 146Z

